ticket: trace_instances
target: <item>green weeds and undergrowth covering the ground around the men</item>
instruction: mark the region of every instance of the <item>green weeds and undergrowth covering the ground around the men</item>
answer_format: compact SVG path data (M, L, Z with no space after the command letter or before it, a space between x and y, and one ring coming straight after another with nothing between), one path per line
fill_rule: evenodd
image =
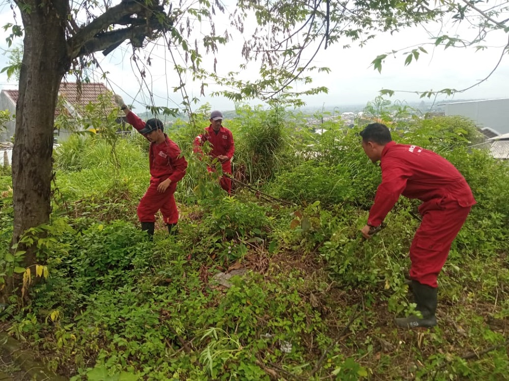
M285 202L240 185L225 197L192 157L196 125L182 122L172 139L185 147L192 179L177 188L179 235L159 220L153 241L135 213L148 183L143 143L118 142L116 164L100 134L62 144L51 223L26 235L41 275L0 327L72 380L507 379L509 167L470 147L475 126L383 115L395 140L453 162L478 203L439 277L438 327L407 331L392 319L415 308L404 279L417 204L400 200L387 227L361 239L380 181L361 126L329 120L319 135L287 111L239 115L230 122L239 142L279 123L280 141L238 144L236 166ZM249 162L261 142L269 149ZM257 169L262 162L270 172ZM20 261L7 250L10 177L0 184L4 279ZM238 275L225 283L227 272Z

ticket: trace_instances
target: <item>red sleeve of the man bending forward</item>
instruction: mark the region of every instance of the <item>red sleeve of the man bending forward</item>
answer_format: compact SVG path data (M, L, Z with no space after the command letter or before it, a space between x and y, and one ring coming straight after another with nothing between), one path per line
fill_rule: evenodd
M387 160L382 165L382 182L378 185L375 202L370 209L367 224L379 226L385 216L398 202L410 177L410 171L395 161Z

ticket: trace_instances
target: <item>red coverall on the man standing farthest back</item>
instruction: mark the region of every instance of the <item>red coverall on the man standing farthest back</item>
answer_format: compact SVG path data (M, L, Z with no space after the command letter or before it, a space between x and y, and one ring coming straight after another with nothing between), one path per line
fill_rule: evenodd
M201 146L205 142L209 142L212 150L209 155L217 157L220 155L228 156L228 161L221 163L223 173L232 174L232 157L235 152L235 144L233 142L233 135L230 130L221 126L219 132L215 132L212 129L212 124L205 129L205 133L198 135L194 139L194 152L201 152ZM213 171L213 168L208 167L209 172ZM226 190L229 194L232 191L232 180L226 176L221 176L219 181L221 188Z

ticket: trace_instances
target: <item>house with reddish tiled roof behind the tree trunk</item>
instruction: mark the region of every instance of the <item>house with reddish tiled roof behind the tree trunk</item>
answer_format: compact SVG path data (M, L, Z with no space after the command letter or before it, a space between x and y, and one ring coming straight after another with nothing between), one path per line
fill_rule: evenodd
M63 99L63 107L56 108L55 117L60 114L82 116L86 112L86 107L90 103L97 103L99 96L104 94L111 94L111 92L102 83L81 83L79 85L77 83L61 83L59 97ZM0 110L9 110L11 114L15 114L18 97L18 90L2 90L0 92ZM117 109L117 105L111 97L111 104L106 106L104 112L110 113L114 109ZM123 118L124 113L119 110L119 123L123 122ZM15 126L14 120L6 123L7 129L0 131L0 142L11 140L14 136ZM55 137L61 141L66 140L71 134L71 131L55 129Z

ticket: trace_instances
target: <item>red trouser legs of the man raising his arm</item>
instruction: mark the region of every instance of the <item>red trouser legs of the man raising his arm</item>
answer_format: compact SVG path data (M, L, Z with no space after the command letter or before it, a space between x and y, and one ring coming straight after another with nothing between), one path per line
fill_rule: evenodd
M175 203L177 183L169 184L165 192L157 192L159 180L150 180L150 186L139 201L137 215L140 222L155 222L155 214L161 210L165 224L177 224L179 212Z

